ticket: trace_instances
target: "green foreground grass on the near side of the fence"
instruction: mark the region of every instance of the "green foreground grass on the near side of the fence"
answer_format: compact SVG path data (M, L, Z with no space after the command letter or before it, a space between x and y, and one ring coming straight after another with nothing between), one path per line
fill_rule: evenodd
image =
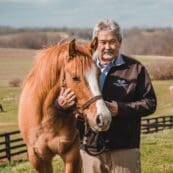
M173 130L142 135L141 160L142 173L173 173ZM62 173L63 162L57 156L53 161L54 171ZM35 173L26 161L13 161L1 164L1 173Z

